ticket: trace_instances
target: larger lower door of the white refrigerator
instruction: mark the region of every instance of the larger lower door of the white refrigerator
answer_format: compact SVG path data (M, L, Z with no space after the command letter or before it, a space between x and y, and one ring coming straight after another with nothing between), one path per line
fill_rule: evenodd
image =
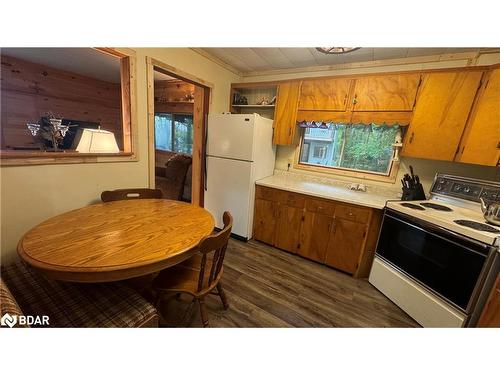
M222 228L222 214L233 215L233 233L250 238L249 216L252 189L252 163L207 157L207 191L205 208Z

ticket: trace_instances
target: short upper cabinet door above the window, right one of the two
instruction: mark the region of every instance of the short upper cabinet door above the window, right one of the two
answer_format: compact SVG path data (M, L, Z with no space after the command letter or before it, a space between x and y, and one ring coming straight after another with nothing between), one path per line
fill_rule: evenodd
M356 78L353 111L411 111L420 73Z

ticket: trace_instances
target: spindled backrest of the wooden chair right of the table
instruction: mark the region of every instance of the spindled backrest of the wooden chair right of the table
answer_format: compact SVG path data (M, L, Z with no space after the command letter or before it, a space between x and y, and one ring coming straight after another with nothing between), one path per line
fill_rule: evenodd
M224 229L216 234L203 238L198 245L201 252L200 273L198 275L198 290L200 293L211 290L217 283L222 271L227 243L233 228L233 217L229 212L224 212ZM213 255L213 256L212 256ZM210 262L208 260L211 260Z

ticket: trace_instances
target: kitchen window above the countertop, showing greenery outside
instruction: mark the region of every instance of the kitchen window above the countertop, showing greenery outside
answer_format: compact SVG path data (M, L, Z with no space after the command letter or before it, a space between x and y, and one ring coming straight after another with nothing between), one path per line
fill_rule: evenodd
M323 123L321 128L304 128L296 167L390 176L395 164L393 145L400 132L397 125Z

